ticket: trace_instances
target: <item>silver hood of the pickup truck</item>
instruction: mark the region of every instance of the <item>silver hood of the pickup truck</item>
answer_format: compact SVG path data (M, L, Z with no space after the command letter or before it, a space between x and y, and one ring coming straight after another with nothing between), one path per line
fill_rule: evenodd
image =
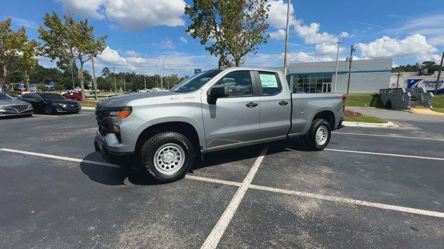
M131 100L138 100L143 98L155 98L167 95L178 95L180 93L176 93L173 91L153 91L147 93L129 93L117 95L111 98L107 98L105 100L101 100L97 107L99 108L107 108L107 107L124 107Z

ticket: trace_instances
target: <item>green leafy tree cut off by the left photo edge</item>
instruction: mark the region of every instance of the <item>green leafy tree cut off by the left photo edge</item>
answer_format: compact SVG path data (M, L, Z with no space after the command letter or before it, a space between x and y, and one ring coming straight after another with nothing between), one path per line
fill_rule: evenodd
M0 90L6 90L8 77L25 72L37 63L38 44L28 40L24 27L17 31L10 28L11 19L0 21Z

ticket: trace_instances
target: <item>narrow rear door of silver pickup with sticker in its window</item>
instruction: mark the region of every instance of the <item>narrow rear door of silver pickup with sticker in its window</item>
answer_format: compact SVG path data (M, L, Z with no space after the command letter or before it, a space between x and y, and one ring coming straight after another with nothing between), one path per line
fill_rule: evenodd
M255 80L260 103L261 139L281 139L290 129L290 93L282 87L278 73L256 71Z

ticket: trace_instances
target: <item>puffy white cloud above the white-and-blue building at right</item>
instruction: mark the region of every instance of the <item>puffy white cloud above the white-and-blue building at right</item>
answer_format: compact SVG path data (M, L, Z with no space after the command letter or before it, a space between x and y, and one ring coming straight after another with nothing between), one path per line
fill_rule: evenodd
M436 59L434 53L438 50L427 43L425 36L419 34L409 35L404 39L384 36L368 44L359 43L356 47L361 50L364 58L416 57L419 61Z

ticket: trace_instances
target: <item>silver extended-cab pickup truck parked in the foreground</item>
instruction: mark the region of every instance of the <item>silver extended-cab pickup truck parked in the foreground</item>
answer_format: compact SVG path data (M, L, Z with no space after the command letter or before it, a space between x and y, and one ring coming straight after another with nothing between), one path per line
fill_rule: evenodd
M324 149L341 128L344 101L341 93L291 93L280 71L214 69L170 91L101 100L94 146L108 161L135 154L148 176L175 181L210 151L295 136Z

